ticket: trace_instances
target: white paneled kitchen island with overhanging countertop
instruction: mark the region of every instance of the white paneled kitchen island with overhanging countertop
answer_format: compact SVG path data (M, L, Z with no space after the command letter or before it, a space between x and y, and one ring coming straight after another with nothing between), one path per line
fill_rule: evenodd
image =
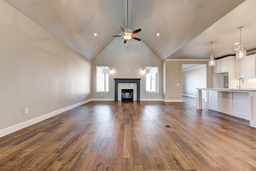
M256 127L256 89L196 88L197 109L202 109L202 90L208 109L250 120Z

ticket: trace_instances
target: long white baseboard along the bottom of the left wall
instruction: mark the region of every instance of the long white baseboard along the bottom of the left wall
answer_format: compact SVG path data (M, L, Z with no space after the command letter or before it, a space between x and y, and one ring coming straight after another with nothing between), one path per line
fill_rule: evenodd
M62 109L59 109L59 110L56 110L56 111L53 111L51 113L48 113L48 114L45 114L45 115L42 115L42 116L39 116L39 117L36 117L34 119L30 119L28 121L25 121L25 122L22 122L22 123L18 123L17 125L13 125L13 126L10 126L10 127L7 127L7 128L4 128L4 129L1 129L0 130L0 137L3 137L4 135L8 135L10 133L13 133L15 131L18 131L24 127L28 127L30 125L33 125L35 123L38 123L40 121L43 121L45 119L48 119L49 117L52 117L52 116L55 116L55 115L58 115L64 111L67 111L69 109L72 109L74 107L77 107L77 106L80 106L80 105L83 105L85 103L88 103L92 101L92 99L89 99L89 100L86 100L86 101L82 101L80 103L76 103L74 105L71 105L71 106L68 106L68 107L64 107Z

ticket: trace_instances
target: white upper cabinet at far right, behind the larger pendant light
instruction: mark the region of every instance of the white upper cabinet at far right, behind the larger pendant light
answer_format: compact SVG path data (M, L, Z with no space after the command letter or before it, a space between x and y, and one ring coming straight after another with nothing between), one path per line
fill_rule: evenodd
M256 56L247 56L244 60L236 60L236 79L256 77Z

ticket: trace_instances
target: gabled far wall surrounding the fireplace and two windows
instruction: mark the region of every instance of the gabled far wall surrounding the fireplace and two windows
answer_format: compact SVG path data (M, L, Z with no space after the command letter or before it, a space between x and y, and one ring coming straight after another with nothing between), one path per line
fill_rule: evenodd
M137 36L138 37L138 36ZM128 40L127 45L123 38L115 38L93 61L92 68L92 98L114 99L113 78L141 78L140 99L162 100L162 61L142 42ZM95 93L96 66L109 66L113 68L109 78L109 93ZM146 93L146 66L159 67L159 93ZM144 68L144 73L142 73ZM129 72L126 72L126 69ZM152 94L154 96L152 96Z

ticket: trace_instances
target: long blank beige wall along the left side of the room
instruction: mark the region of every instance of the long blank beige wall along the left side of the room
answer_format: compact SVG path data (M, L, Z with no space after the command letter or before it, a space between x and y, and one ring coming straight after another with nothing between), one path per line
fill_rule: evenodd
M0 9L0 134L91 99L90 61L3 0Z

